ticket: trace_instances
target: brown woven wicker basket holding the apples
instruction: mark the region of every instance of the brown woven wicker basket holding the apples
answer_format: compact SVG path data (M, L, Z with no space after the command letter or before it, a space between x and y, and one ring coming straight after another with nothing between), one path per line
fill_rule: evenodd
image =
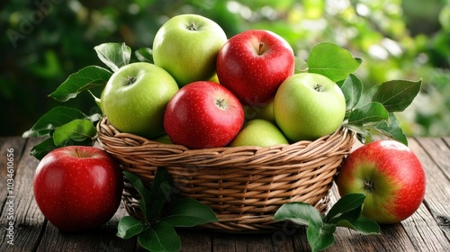
M107 120L97 124L103 148L122 168L149 184L165 166L182 194L203 202L220 221L202 226L220 231L279 229L275 211L285 202L308 202L326 211L329 189L342 159L355 143L351 130L314 140L269 148L188 149L121 133ZM125 183L123 203L141 218L139 194Z

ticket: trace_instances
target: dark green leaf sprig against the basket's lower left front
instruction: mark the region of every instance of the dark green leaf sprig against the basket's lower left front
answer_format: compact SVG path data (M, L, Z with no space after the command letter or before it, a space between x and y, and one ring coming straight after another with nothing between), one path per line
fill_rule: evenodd
M193 198L180 197L170 174L163 167L149 188L138 175L123 172L140 196L143 219L124 216L119 221L117 236L128 239L137 236L139 245L148 251L179 251L181 241L176 227L193 227L218 221L211 208Z

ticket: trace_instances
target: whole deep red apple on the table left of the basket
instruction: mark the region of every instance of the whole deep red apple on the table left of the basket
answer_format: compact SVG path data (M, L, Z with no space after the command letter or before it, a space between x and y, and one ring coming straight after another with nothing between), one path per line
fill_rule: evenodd
M110 220L121 203L118 163L103 149L67 146L40 160L33 177L34 198L58 229L94 229Z

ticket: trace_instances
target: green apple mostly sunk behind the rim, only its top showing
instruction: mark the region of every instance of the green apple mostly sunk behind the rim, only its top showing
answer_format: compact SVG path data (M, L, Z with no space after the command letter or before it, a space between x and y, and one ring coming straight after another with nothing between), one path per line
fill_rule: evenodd
M254 119L246 123L236 138L229 143L229 146L269 147L275 144L289 144L289 142L274 123L262 119Z

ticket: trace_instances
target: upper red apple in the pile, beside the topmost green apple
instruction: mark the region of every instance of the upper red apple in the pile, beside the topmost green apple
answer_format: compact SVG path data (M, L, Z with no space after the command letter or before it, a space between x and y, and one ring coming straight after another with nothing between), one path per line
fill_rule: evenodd
M241 103L261 105L274 98L294 67L293 49L286 40L272 31L248 30L223 45L216 71L220 85L229 88Z

